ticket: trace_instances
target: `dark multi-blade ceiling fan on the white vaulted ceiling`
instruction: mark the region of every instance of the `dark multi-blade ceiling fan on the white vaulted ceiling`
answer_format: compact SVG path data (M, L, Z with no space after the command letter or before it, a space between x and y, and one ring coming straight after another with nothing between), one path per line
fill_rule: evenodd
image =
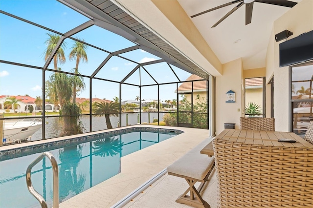
M197 17L199 15L205 14L207 12L214 11L216 9L223 8L225 6L238 3L237 6L235 6L232 10L230 10L221 20L217 21L212 27L217 26L219 23L221 23L223 20L225 20L229 15L231 15L234 11L239 9L242 5L246 4L246 25L251 23L252 19L252 9L253 9L253 2L260 2L260 3L268 3L268 4L274 4L278 6L286 6L286 7L293 7L297 4L297 2L293 2L290 0L233 0L229 3L222 4L220 6L214 7L212 9L208 9L206 11L200 12L198 14L195 14L191 16L191 18Z

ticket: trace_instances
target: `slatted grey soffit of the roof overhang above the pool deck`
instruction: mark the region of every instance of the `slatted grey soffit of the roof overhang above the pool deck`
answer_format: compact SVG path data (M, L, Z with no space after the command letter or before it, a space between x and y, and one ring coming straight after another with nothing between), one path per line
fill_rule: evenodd
M59 0L93 20L93 24L136 43L166 62L206 80L209 74L110 0Z

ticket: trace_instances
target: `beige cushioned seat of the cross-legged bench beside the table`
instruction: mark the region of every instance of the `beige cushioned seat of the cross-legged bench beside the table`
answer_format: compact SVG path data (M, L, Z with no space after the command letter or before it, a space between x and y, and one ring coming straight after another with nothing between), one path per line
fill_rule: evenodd
M214 164L214 156L208 157L200 151L211 140L205 139L195 148L167 167L167 171L190 178L203 180Z

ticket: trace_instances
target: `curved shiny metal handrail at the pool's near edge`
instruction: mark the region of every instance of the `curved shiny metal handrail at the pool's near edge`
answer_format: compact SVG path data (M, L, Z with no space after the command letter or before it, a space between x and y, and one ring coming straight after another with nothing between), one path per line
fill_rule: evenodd
M53 171L53 208L59 208L59 171L58 163L55 160L55 157L50 152L42 153L36 160L34 160L26 170L26 184L29 192L33 195L40 203L42 208L48 208L47 203L45 202L44 197L42 197L33 187L31 183L31 168L39 163L44 157L47 157L52 166Z

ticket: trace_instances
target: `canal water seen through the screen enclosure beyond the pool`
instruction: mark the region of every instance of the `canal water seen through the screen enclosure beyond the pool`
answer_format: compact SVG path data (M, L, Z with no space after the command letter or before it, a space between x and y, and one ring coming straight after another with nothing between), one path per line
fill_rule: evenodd
M160 121L163 119L163 115L165 113L159 113ZM141 124L149 124L149 118L150 123L153 123L154 119L157 119L157 112L149 112L149 113L142 113L141 114ZM81 121L85 127L84 132L89 132L89 115L83 115L81 116ZM120 126L126 126L126 125L136 125L138 124L139 120L139 113L122 113L122 124ZM119 123L119 117L110 116L110 121L113 128L118 127ZM55 138L59 137L61 131L62 131L62 121L60 121L59 117L46 117L45 118L45 138ZM105 130L107 129L106 119L104 116L101 117L95 117L92 116L92 131L99 131L99 130ZM40 128L38 131L36 131L31 136L31 141L41 140L42 139L42 128Z

